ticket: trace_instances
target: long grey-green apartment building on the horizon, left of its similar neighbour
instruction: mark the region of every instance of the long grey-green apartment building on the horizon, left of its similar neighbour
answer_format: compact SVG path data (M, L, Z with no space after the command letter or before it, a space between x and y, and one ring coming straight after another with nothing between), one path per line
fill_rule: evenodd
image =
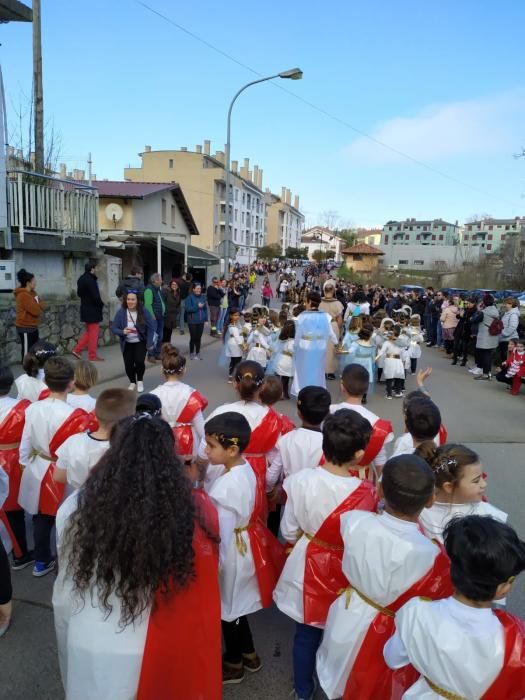
M387 221L383 226L381 245L456 245L459 242L459 225L443 219L419 221Z

